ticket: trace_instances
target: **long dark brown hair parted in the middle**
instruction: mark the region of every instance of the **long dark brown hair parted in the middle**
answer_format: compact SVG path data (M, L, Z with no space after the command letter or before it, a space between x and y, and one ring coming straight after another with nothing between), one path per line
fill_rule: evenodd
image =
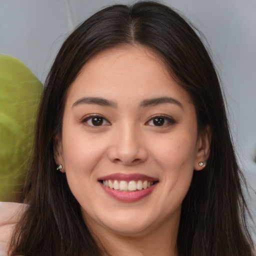
M100 255L65 174L55 170L53 147L61 133L65 94L84 63L99 50L128 44L152 48L190 94L200 132L211 129L210 156L193 174L178 230L180 256L251 256L246 204L219 79L201 39L173 9L152 1L113 5L92 15L64 41L47 76L34 151L11 255Z

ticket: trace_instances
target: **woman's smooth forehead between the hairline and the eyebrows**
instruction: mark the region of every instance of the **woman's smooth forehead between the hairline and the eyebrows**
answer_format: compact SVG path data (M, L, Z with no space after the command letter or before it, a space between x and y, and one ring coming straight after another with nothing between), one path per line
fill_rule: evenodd
M125 94L127 100L174 93L191 102L189 94L173 80L160 57L142 45L98 52L81 68L69 86L66 99L75 100L85 95L116 100L120 93Z

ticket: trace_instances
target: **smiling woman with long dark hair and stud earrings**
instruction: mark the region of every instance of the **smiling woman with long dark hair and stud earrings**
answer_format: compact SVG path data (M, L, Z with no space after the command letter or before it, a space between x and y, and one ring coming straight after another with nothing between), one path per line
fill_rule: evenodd
M188 22L155 2L107 7L47 77L9 254L252 255L240 176Z

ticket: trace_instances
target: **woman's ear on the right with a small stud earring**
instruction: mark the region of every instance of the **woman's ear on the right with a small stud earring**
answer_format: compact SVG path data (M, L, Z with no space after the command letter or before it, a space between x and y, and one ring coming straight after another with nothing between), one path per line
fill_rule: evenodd
M194 169L202 170L210 154L211 130L209 125L198 134L196 152L194 157ZM200 163L200 164L199 164Z

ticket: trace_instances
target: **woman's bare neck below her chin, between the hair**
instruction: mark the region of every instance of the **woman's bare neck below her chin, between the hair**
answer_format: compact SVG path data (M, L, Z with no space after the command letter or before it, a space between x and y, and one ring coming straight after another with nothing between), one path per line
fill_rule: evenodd
M178 256L176 241L178 232L177 221L166 222L163 226L139 234L118 234L110 230L95 230L93 236L104 256ZM96 231L96 232L95 232Z

